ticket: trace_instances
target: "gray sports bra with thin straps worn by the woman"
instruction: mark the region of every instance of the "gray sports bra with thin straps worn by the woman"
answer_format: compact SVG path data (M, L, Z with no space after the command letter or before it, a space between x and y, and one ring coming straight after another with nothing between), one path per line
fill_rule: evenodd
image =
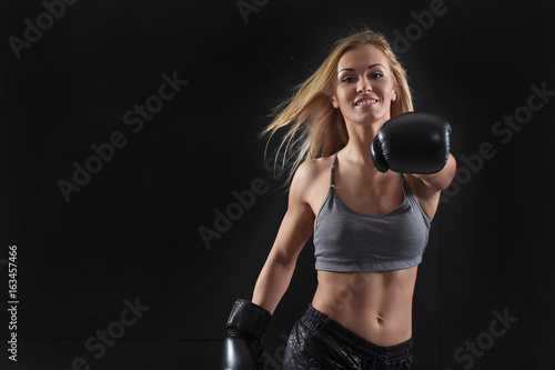
M411 187L400 174L403 202L383 214L350 209L335 192L333 156L330 190L320 208L314 230L316 270L373 272L408 269L422 262L430 219Z

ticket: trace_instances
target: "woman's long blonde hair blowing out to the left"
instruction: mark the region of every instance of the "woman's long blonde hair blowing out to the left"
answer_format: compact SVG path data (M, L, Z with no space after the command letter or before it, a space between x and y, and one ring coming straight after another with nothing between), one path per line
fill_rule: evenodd
M276 150L274 162L278 163L281 153L283 170L287 158L293 158L287 180L291 180L303 161L332 156L347 143L349 133L343 114L332 106L330 96L335 87L341 57L346 51L364 44L375 46L387 58L397 94L397 99L391 104L391 117L413 110L406 71L382 33L364 28L340 39L322 66L295 88L293 97L274 109L275 118L261 132L261 137L269 134L268 142L270 142L279 129L289 126Z

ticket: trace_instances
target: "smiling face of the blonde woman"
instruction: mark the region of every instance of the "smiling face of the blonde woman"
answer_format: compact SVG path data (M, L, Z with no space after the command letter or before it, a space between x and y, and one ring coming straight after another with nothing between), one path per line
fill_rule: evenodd
M387 58L372 44L346 51L337 64L337 79L330 100L345 123L385 122L395 101Z

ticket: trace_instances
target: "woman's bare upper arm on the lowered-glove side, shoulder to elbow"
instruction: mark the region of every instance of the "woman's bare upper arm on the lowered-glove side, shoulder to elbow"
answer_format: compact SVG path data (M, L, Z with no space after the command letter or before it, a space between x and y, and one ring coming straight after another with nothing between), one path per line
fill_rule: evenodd
M315 216L307 202L312 171L306 162L296 170L289 192L287 211L272 247L271 256L284 266L296 262L299 253L314 230Z

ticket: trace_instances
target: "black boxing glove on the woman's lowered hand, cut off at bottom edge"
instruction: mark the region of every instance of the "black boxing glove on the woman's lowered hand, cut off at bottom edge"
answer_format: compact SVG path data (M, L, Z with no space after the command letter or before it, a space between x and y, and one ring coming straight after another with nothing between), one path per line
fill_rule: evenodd
M262 337L272 316L262 307L238 299L228 319L222 370L259 370Z

